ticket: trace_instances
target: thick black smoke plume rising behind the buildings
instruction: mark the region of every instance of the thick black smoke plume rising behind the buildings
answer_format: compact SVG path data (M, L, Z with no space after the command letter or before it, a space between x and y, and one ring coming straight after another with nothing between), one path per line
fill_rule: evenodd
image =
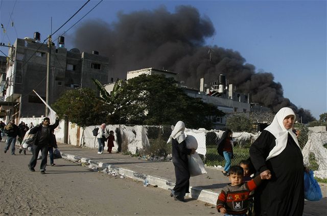
M165 7L130 14L119 13L118 21L89 20L74 35L76 47L97 50L109 57L109 78L126 78L126 72L154 67L178 73L184 85L199 89L200 78L206 83L224 74L236 91L250 93L259 102L277 112L290 106L302 122L314 120L310 111L301 109L283 96L283 87L268 72L255 72L239 52L217 45L205 45L215 29L208 17L191 6L178 6L175 13ZM210 50L210 51L209 51Z

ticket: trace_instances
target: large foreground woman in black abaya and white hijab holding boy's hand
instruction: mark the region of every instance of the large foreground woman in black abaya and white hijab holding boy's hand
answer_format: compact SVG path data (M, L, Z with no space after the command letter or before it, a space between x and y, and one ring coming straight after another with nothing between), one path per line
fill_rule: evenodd
M292 131L295 114L283 107L250 147L250 158L263 181L254 193L255 215L302 215L303 156Z

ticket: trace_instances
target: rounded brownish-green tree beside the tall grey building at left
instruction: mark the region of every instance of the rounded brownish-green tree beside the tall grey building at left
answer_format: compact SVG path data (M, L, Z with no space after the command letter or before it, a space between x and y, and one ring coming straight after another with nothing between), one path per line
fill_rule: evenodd
M60 118L65 118L81 127L106 122L106 106L91 89L65 91L52 104L52 108Z

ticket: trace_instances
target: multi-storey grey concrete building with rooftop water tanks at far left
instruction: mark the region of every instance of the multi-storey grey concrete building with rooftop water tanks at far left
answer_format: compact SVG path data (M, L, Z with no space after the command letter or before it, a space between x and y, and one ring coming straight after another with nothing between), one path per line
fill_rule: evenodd
M0 110L6 110L6 117L32 117L45 115L45 106L35 90L44 100L46 97L46 71L48 46L42 44L39 33L34 38L15 41L9 48L6 73L2 73L0 89L4 90L4 102ZM82 52L77 48L64 48L64 38L59 37L59 46L51 46L51 68L49 76L49 104L54 103L66 90L90 88L97 90L92 78L108 83L109 59L99 52ZM4 119L6 120L6 119ZM7 120L6 120L7 121Z

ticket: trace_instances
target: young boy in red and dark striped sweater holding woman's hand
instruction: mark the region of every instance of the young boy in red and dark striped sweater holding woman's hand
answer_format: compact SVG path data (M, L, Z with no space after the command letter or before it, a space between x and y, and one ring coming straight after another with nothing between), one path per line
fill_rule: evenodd
M225 186L217 200L217 210L225 216L246 216L249 205L249 195L260 183L260 175L254 179L243 182L244 170L240 166L232 166L229 169L230 183Z

